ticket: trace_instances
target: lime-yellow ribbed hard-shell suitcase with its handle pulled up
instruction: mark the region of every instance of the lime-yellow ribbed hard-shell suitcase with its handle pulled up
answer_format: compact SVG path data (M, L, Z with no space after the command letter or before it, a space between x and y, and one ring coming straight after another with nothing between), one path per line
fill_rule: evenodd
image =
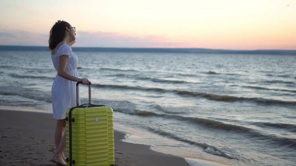
M78 105L76 84L75 107L66 112L67 166L114 166L113 110L106 105L89 103Z

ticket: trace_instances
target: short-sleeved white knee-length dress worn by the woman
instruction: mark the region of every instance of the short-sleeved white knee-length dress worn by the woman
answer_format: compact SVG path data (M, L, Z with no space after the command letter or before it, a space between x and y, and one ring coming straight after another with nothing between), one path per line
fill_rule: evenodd
M69 57L66 71L72 76L78 77L78 58L67 44L61 45L56 54L51 55L54 68L58 71L59 57L61 55ZM67 80L57 74L51 87L51 94L53 118L65 119L67 109L76 106L76 82ZM78 101L78 104L80 104L80 97Z

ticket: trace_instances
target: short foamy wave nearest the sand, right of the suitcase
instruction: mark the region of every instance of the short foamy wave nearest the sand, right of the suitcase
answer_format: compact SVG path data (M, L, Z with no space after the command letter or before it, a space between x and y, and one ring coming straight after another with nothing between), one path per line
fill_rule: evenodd
M175 135L173 133L168 133L168 132L165 132L165 131L162 131L162 130L159 130L159 129L153 129L153 128L150 128L150 127L146 127L146 129L149 132L152 132L152 133L156 133L156 134L166 136L166 137L178 140L178 141L182 141L182 142L188 143L190 145L195 145L195 146L202 147L205 150L205 152L211 153L213 155L222 156L222 157L225 157L225 158L228 158L228 159L236 159L236 158L226 154L225 152L222 152L221 150L219 150L215 146L211 146L211 145L208 145L206 143L199 143L199 142L195 142L195 141L192 141L192 140L188 140L188 139L179 137L179 136L177 136L177 135Z

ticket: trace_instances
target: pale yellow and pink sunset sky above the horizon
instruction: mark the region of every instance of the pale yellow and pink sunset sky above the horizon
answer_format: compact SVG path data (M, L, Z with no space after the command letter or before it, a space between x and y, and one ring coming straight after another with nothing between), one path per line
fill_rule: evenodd
M0 0L0 45L296 50L296 0Z

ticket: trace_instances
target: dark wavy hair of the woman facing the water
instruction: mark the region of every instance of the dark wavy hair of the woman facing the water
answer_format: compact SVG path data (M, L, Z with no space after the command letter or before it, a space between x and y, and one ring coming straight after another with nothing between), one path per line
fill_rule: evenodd
M53 50L64 39L66 27L70 28L70 24L66 21L58 21L52 26L48 40L50 50Z

